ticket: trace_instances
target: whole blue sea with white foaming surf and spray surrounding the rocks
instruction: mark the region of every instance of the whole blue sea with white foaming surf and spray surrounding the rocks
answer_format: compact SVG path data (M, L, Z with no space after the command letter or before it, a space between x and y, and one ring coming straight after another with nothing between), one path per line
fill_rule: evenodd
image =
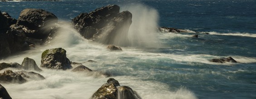
M112 52L85 40L72 18L108 4L133 14L132 46ZM64 27L45 46L0 60L20 63L25 57L40 65L45 49L62 47L67 57L95 71L111 73L143 99L256 99L256 0L60 0L0 2L1 12L18 18L25 8L44 9ZM189 33L162 33L175 27ZM192 35L198 33L198 38ZM239 63L212 63L231 56ZM97 63L86 63L87 60ZM13 99L88 99L106 83L98 74L44 69L46 79L2 84ZM15 70L14 70L15 71ZM3 72L0 71L0 72Z

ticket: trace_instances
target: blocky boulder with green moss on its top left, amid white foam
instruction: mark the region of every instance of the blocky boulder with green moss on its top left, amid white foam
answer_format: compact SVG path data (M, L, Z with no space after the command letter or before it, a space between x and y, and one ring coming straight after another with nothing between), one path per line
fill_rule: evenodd
M72 68L69 58L66 57L66 50L62 48L47 49L41 58L41 67L62 70Z

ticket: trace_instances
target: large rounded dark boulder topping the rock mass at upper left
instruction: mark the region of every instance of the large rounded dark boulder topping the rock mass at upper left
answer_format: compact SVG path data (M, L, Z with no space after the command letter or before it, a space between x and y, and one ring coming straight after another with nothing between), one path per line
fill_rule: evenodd
M24 9L21 11L16 28L25 31L27 37L46 39L57 30L58 18L43 9Z

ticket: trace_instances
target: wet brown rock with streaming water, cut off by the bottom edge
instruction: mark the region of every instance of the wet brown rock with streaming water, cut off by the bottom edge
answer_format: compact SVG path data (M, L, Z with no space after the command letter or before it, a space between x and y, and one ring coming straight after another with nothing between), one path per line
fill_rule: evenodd
M109 78L91 97L91 99L141 99L141 97L128 86L120 86L119 82Z

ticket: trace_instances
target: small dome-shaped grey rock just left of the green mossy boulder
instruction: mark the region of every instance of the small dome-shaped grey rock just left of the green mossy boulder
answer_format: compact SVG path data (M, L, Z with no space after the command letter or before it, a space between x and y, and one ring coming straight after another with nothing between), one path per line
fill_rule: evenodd
M35 63L34 59L31 58L24 58L24 60L22 61L22 67L25 70L36 70L36 71L42 71L42 69L40 69L37 64Z

